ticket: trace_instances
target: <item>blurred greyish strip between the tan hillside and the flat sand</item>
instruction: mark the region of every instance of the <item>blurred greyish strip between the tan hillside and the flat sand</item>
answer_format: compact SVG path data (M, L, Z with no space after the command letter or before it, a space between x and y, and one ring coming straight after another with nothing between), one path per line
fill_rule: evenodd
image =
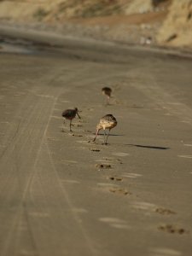
M73 25L72 25L73 26ZM113 38L106 39L94 38L84 35L73 35L73 33L60 31L57 26L49 26L46 23L33 23L22 24L20 22L13 24L12 22L5 22L3 20L0 24L0 38L3 37L13 39L26 40L33 44L47 44L47 46L61 47L63 42L68 40L73 44L102 44L113 45L120 48L132 48L137 50L145 50L148 52L156 52L163 55L177 55L178 57L192 58L192 50L187 48L173 48L167 46L161 46L158 44L133 44L127 40L117 41ZM3 39L4 40L4 39ZM53 42L54 41L54 42Z

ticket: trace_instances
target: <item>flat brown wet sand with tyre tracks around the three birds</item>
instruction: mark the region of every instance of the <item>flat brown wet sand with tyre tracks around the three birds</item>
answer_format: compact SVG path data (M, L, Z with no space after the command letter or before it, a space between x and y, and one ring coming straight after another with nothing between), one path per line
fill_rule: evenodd
M0 51L0 254L190 255L191 59L42 42ZM91 143L107 113L109 144Z

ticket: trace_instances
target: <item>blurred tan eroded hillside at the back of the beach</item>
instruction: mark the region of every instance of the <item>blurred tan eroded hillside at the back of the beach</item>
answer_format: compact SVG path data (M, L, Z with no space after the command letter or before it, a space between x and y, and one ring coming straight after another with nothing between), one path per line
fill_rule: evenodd
M133 44L192 48L191 16L191 0L0 1L3 21L62 26L67 33Z

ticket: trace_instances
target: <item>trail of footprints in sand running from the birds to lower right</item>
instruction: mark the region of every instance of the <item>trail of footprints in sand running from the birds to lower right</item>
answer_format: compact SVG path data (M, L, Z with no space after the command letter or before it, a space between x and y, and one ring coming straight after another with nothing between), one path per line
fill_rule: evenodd
M82 122L80 124L73 124L73 126L76 127L83 127L84 125ZM91 131L84 130L82 129L83 132L85 132L85 135L72 132L72 133L67 133L68 135L71 135L73 137L86 137L88 140L83 140L83 141L77 141L77 143L84 143L86 145L90 146L90 133ZM89 133L87 135L87 133ZM85 149L86 147L84 147ZM89 150L91 153L99 153L103 149L101 148L96 148L96 147L89 147ZM128 156L128 153L123 153L123 152L114 152L112 153L114 157L104 157L102 159L96 159L96 164L95 164L95 169L97 172L109 172L108 175L105 175L104 178L108 180L108 182L105 183L97 183L98 187L101 189L104 189L105 191L108 191L111 195L119 195L119 196L131 196L133 195L131 190L127 188L127 186L122 186L123 182L126 182L128 178L137 178L137 177L142 177L141 174L134 173L134 172L125 172L121 173L121 175L118 174L110 174L110 171L114 171L115 167L117 165L123 165L123 161L120 160L119 158L115 157L125 157ZM131 204L131 203L130 203ZM134 203L131 204L132 208L135 208L137 210L144 210L146 212L154 212L157 214L160 214L162 216L170 216L177 214L177 212L174 212L170 209L166 209L164 207L158 207L155 206L154 204L150 204L148 202L139 202L135 201ZM105 222L109 224L113 228L118 228L118 229L130 229L131 227L125 222L125 220L117 219L117 218L111 218L111 217L103 217L99 219L102 222ZM189 230L183 229L183 227L178 227L175 224L159 224L157 226L157 230L160 230L162 232L170 233L170 234L178 234L178 235L183 235L183 234L189 234Z

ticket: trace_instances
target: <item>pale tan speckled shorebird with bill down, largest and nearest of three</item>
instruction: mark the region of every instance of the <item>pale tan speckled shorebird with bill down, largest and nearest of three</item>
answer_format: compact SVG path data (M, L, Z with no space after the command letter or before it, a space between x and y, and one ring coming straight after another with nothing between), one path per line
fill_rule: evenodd
M109 135L109 132L111 131L111 129L116 125L117 125L117 120L115 119L115 117L113 117L113 114L110 114L110 113L106 114L105 116L102 117L102 119L100 119L99 124L96 125L96 137L98 135L98 132L103 129L104 144L107 145L108 136L105 140L105 137L106 137L105 130L108 129L108 135ZM93 142L96 141L96 137L94 138Z

